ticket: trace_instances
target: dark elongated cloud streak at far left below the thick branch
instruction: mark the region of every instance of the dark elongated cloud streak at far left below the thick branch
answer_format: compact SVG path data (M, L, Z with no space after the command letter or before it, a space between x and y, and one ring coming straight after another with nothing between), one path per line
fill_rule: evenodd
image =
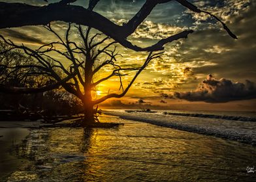
M1 33L5 34L6 36L10 36L12 38L17 38L18 40L22 40L24 42L33 42L33 43L37 43L37 44L45 44L39 38L35 38L33 36L28 36L25 33L14 31L12 29L3 29L3 30L1 30Z

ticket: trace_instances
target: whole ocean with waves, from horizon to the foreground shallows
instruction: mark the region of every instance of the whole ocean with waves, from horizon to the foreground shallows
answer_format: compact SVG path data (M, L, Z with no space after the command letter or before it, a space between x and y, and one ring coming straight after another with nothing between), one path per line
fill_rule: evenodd
M129 111L129 110L127 110ZM256 145L255 112L154 110L154 112L105 110L105 114L153 125L213 135Z

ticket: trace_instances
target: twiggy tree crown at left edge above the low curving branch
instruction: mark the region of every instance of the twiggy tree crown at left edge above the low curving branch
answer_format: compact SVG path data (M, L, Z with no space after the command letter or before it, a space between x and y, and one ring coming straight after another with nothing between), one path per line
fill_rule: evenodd
M0 85L5 85L6 88L12 86L40 88L43 85L50 85L52 80L48 79L48 73L41 72L35 60L25 56L22 51L12 49L13 47L8 44L0 42Z

